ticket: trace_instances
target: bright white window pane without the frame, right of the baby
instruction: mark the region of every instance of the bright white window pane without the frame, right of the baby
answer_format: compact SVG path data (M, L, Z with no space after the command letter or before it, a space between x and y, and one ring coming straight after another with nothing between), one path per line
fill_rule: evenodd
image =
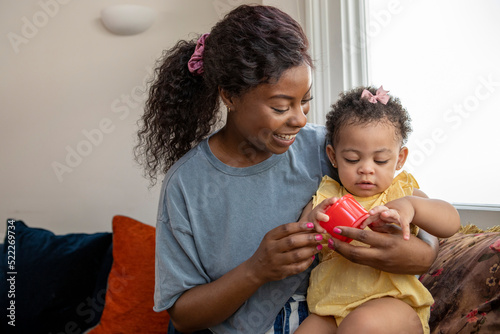
M406 168L430 197L500 207L500 2L365 1L368 82L412 117Z

